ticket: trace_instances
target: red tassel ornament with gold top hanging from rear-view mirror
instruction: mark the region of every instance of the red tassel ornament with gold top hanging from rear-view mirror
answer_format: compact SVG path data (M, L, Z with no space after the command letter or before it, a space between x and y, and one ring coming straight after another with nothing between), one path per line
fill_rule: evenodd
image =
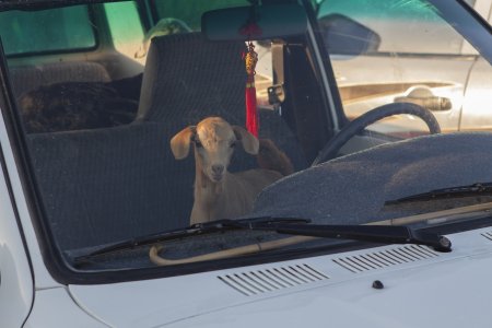
M247 52L243 54L246 63L246 129L258 137L258 110L256 107L255 68L258 62L258 54L255 52L255 45L248 43Z

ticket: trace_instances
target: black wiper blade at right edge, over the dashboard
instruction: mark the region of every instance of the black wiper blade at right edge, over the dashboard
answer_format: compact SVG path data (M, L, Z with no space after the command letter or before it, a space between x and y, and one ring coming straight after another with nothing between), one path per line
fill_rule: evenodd
M459 186L452 188L435 189L427 192L417 194L408 197L402 197L396 200L388 200L385 204L397 204L410 201L446 199L446 198L459 198L469 197L476 195L492 195L492 183L473 184L468 186Z

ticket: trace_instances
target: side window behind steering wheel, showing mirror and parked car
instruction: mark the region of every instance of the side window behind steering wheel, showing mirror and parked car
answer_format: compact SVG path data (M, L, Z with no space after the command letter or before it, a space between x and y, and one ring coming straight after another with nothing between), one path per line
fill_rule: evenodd
M443 131L460 129L477 51L430 2L325 0L317 16L348 119L413 103L431 110ZM429 129L402 115L370 130L413 137Z

